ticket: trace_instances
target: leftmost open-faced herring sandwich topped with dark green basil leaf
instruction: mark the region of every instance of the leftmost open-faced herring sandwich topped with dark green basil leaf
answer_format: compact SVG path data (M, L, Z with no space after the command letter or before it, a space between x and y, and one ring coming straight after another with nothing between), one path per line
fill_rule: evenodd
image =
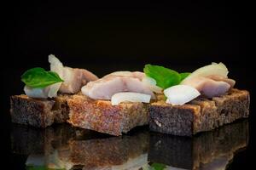
M87 82L98 79L85 69L63 66L49 55L50 71L36 67L21 76L25 94L10 98L12 122L34 127L48 127L54 122L67 122L67 99L80 91Z

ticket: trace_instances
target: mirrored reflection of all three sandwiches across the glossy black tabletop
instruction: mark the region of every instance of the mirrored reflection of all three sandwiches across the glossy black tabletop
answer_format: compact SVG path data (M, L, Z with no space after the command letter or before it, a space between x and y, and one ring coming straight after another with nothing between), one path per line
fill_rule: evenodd
M220 127L193 138L137 127L113 137L59 124L37 129L13 124L11 148L27 169L225 169L248 144L248 122Z

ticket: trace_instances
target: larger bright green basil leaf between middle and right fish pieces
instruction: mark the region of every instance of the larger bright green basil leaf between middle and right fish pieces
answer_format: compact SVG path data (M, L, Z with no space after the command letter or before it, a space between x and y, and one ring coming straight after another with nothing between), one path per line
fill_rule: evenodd
M160 88L169 88L181 82L181 76L177 71L160 65L145 65L143 71L148 77L154 78Z

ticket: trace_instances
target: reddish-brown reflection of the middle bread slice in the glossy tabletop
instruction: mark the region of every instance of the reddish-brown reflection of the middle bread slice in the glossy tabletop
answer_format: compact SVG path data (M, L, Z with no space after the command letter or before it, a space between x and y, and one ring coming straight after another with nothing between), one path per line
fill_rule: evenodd
M69 161L87 168L122 165L148 153L148 137L148 132L138 132L132 136L72 140Z

